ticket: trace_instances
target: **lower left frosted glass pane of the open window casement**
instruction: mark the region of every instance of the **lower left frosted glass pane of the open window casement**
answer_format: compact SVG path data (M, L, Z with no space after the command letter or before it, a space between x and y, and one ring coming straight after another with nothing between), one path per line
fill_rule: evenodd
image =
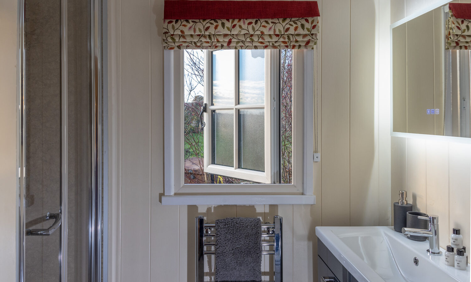
M234 166L234 111L212 111L212 163Z

